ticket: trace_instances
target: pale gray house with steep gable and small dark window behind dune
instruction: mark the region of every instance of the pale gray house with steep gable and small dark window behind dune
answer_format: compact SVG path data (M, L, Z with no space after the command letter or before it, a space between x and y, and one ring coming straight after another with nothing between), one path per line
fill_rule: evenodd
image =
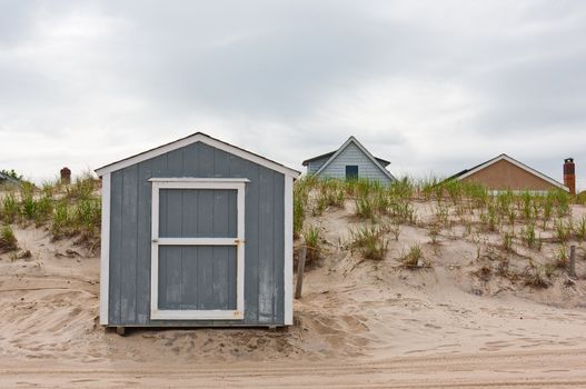
M388 184L395 177L386 169L389 161L374 157L355 137L348 138L338 150L302 162L307 173L340 180L364 178Z

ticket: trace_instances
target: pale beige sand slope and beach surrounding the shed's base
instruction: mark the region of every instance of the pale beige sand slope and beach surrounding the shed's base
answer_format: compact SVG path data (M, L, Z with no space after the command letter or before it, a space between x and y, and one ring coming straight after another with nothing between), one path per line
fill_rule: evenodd
M347 210L309 222L321 227L327 255L306 273L288 332L125 338L96 325L98 258L41 229L17 229L32 258L0 255L0 387L586 387L584 280L560 273L545 290L479 280L470 272L489 259L475 260L473 242L445 231L431 248L424 227L403 226L384 261L365 261L339 246L358 223ZM399 267L415 241L431 268Z

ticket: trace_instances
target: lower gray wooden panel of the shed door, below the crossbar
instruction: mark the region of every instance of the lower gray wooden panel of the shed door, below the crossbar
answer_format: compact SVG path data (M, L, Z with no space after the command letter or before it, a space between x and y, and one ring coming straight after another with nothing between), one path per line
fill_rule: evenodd
M236 247L160 246L159 309L236 310Z

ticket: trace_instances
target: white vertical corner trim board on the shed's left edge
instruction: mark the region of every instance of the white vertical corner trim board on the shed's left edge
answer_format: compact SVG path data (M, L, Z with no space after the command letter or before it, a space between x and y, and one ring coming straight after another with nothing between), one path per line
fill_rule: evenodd
M101 178L100 325L108 326L110 291L110 197L111 174Z

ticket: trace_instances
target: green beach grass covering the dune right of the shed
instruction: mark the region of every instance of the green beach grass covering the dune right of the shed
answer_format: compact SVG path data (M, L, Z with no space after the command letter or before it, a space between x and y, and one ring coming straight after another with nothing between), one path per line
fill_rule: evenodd
M364 179L336 181L307 177L295 186L294 230L299 237L308 215L319 218L325 212L348 207L365 223L349 232L347 247L358 250L365 259L384 259L389 239L399 240L401 230L406 231L404 228L409 225L426 229L429 237L426 245L430 245L434 252L443 230L449 232L446 239L456 239L461 233L463 239L476 246L476 260L498 260L490 266L488 276L483 277L499 275L511 282L545 288L549 278L567 262L569 241L586 241L586 217L570 221L570 205L579 199L560 190L490 193L478 183L441 181L435 177L420 181L401 178L389 186ZM429 207L421 206L421 201L433 201L431 215L417 215L416 210ZM310 229L305 231L309 233ZM500 241L483 232L498 232ZM520 245L540 251L544 245L552 242L560 246L549 262L534 266L530 261L525 270L511 265L514 258L524 255ZM425 265L424 248L425 245L410 246L400 258L403 266Z

